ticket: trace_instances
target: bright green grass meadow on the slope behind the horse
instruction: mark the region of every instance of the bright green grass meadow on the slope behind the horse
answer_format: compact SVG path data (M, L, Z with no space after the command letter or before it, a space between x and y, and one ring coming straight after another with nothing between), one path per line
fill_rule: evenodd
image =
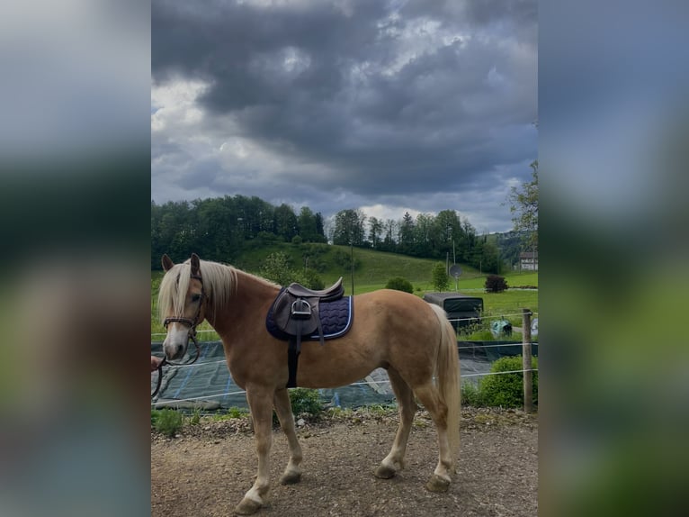
M321 265L319 276L329 285L336 281L338 277L343 277L346 294L352 292L352 277L348 269L336 265L333 257L336 250L350 253L350 249L345 246L320 245L322 249L318 254L318 261ZM261 261L275 251L282 251L291 258L292 268L297 268L303 263L301 254L303 248L291 244L274 243L264 246L262 249L252 249L237 260L237 268L250 273L256 273L261 265ZM354 249L354 259L359 263L354 271L354 294L369 293L382 289L392 277L404 277L414 286L414 293L423 296L427 292L434 291L431 282L431 272L438 260L434 259L415 259L394 253L383 253L372 249ZM479 270L461 265L462 274L457 282L457 290L462 293L477 295L483 298L484 316L489 318L505 316L513 326L522 326L522 309L531 309L533 313L538 313L538 290L508 289L503 293L486 293L484 283L486 274L481 274ZM510 287L533 286L538 287L537 272L507 272L502 275L506 278L507 285ZM157 319L157 289L163 277L162 271L151 272L151 340L162 340L165 329ZM450 291L455 290L454 279L451 278ZM201 334L200 340L217 340L217 334L211 332L210 325L203 322L199 326ZM483 334L485 334L485 329ZM488 332L489 334L489 332ZM516 335L515 338L519 339ZM479 338L474 338L479 339ZM487 338L488 339L488 338Z

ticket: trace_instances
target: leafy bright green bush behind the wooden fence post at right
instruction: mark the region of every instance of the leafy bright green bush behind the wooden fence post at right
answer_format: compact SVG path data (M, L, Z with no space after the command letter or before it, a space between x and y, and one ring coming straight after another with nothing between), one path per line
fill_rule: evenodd
M532 368L538 367L538 359L532 358ZM523 369L522 356L499 358L492 373L512 372ZM538 372L533 372L533 404L538 404ZM523 407L523 373L485 376L479 381L480 398L488 406Z

